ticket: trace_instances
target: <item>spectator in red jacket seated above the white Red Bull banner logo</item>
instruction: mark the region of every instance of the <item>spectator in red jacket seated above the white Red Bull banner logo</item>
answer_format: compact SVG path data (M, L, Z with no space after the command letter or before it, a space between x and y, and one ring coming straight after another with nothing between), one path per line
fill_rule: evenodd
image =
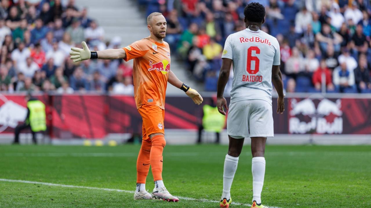
M321 60L318 69L313 73L312 81L316 91L321 91L322 82L325 84L327 91L335 90L334 84L332 84L331 71L326 67L324 59Z

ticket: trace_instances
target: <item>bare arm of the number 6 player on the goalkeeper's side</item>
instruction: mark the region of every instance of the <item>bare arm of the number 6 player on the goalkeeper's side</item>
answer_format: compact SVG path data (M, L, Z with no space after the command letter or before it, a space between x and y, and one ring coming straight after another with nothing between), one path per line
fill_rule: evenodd
M228 82L229 78L229 72L232 66L232 59L229 58L223 58L219 73L219 79L218 79L218 88L217 88L217 107L219 113L226 115L226 112L224 110L228 110L227 106L227 100L223 97L224 88L226 87L226 84ZM223 110L224 107L224 110Z

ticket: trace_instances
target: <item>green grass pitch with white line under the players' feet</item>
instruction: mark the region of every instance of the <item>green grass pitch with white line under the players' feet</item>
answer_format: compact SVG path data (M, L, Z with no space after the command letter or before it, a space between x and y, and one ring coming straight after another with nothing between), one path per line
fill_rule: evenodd
M0 179L135 190L139 145L0 146ZM224 145L164 149L162 177L180 202L134 201L132 192L0 180L0 207L219 207ZM370 146L267 146L263 204L272 207L371 207ZM153 189L151 171L146 188ZM250 147L232 184L232 208L252 198ZM192 198L190 199L185 199ZM207 199L207 200L200 200Z

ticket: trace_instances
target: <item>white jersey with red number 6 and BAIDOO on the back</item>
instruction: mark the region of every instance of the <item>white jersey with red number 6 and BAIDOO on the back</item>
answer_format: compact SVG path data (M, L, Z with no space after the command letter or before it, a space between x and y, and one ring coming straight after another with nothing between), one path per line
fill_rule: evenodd
M275 37L246 28L227 37L221 57L233 60L231 103L259 99L272 105L272 65L280 65Z

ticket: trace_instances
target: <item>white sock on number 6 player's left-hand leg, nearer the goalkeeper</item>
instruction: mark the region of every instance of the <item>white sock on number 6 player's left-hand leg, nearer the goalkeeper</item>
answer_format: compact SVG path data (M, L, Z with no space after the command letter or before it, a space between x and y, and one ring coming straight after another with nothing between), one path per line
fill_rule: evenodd
M231 198L231 186L234 178L234 173L237 170L238 157L232 157L226 155L224 160L224 172L223 172L223 194L221 198L226 198L227 200Z

